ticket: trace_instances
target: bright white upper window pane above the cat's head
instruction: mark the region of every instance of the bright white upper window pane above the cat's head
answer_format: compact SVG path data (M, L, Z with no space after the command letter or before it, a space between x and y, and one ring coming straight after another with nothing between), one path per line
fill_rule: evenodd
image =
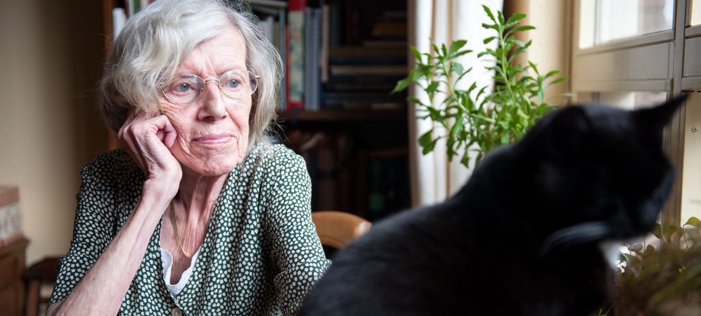
M580 47L672 29L674 0L582 0Z

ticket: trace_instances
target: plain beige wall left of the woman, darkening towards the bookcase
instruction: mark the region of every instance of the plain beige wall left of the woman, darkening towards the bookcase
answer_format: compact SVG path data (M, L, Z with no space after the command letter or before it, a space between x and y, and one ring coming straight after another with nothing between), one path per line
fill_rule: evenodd
M88 90L100 1L0 1L0 184L20 187L27 263L67 252L79 169L104 151Z

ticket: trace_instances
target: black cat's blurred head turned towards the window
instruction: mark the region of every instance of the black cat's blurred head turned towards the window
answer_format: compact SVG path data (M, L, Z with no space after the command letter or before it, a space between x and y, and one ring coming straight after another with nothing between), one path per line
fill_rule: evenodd
M565 107L517 144L536 157L531 191L553 233L545 247L622 240L651 231L672 186L662 149L665 125L683 102L625 111L591 104Z

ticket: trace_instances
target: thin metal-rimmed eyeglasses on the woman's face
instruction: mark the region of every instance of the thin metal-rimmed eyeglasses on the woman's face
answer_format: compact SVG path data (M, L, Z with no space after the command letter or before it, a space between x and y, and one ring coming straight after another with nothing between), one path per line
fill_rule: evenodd
M202 97L207 88L207 81L217 81L217 87L224 95L232 99L244 99L255 92L259 78L260 76L243 69L229 70L219 79L207 80L195 74L178 74L166 85L163 95L175 103L192 103Z

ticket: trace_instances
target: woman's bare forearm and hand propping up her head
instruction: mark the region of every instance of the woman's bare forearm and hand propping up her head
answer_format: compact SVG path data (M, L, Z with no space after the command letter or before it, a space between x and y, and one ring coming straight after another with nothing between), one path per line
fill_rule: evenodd
M168 118L143 112L132 114L119 137L122 147L147 175L142 196L86 275L63 301L50 305L46 315L116 315L151 235L177 193L182 170L167 148L175 139Z

